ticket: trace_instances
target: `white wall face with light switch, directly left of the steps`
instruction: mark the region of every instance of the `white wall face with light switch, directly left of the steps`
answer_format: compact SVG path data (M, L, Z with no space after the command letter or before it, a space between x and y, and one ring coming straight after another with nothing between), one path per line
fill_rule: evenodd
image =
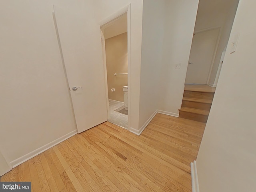
M163 58L158 109L178 114L182 103L188 58L199 0L168 0L165 11ZM181 63L180 69L174 66ZM154 102L154 101L152 101Z

